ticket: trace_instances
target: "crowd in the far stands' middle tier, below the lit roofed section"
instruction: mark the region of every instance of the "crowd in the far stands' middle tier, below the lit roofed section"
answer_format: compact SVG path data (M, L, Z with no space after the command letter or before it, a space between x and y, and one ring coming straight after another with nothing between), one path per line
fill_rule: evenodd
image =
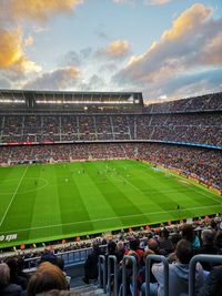
M149 140L222 146L222 113L0 115L0 143Z

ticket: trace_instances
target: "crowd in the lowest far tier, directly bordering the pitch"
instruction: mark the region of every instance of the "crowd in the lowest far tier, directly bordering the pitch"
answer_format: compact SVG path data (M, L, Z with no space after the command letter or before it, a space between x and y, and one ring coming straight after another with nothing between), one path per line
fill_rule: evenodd
M208 186L222 188L220 150L157 143L65 144L1 147L1 164L137 159L176 169Z

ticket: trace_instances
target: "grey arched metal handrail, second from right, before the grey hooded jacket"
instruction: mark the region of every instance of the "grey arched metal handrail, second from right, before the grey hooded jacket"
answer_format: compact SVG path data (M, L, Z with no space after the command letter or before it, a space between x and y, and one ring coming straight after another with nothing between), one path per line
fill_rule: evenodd
M151 261L160 261L163 263L163 274L164 274L164 296L169 296L169 263L167 258L162 255L149 255L145 258L145 296L150 296L150 271Z

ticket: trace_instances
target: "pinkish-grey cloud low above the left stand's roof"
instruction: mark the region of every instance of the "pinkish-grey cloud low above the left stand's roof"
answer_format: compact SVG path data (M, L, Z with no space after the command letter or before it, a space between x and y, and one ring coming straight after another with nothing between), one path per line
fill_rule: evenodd
M64 90L69 88L70 84L74 84L78 76L78 68L61 68L28 81L23 88L29 90Z

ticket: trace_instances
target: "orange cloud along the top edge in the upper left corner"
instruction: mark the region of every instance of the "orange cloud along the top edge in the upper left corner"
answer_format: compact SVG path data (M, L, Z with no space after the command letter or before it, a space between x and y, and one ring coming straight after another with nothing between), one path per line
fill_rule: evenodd
M84 0L0 0L0 19L47 21L54 13L71 13Z

